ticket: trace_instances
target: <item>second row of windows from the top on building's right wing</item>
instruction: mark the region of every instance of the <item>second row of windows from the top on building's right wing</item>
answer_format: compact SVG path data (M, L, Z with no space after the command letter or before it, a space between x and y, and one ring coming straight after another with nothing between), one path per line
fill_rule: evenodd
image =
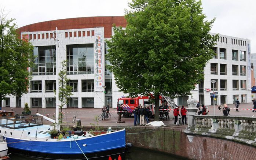
M220 64L220 75L228 75L227 74L227 64ZM218 74L218 64L211 63L211 74ZM238 65L232 65L232 75L238 74ZM246 76L246 66L240 65L240 75Z

